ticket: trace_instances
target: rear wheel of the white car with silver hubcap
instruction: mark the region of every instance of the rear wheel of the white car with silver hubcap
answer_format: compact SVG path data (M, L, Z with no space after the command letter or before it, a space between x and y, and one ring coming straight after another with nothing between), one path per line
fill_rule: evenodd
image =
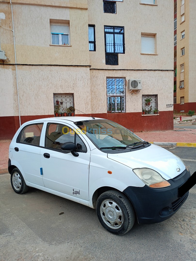
M13 190L18 194L23 194L29 189L18 168L12 170L10 180Z

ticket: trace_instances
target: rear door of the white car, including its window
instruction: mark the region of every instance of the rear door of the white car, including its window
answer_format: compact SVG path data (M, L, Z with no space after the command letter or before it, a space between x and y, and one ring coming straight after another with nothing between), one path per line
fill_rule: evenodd
M19 133L13 145L13 153L19 170L24 173L28 182L44 187L40 173L40 137L43 128L42 123L26 125Z

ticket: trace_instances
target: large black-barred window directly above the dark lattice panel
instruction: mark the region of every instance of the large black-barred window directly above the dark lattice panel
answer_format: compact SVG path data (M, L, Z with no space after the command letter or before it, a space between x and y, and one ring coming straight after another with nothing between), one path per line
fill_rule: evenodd
M106 54L124 54L124 27L104 26Z

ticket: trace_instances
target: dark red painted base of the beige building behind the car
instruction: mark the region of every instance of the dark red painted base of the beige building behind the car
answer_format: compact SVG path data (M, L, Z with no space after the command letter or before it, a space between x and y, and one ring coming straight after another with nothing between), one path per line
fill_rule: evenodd
M76 114L76 116L87 116L85 114ZM141 112L126 113L99 113L91 114L93 117L105 118L115 121L132 132L145 131L166 131L172 130L173 111L159 111L159 115L142 116ZM54 115L31 115L21 116L21 124L27 121L54 117ZM0 117L0 139L12 139L19 128L18 116Z

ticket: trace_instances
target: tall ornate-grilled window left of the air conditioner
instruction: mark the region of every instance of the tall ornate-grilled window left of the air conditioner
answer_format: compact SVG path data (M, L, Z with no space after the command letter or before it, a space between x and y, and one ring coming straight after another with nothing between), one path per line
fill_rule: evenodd
M107 78L107 111L125 112L125 78Z

